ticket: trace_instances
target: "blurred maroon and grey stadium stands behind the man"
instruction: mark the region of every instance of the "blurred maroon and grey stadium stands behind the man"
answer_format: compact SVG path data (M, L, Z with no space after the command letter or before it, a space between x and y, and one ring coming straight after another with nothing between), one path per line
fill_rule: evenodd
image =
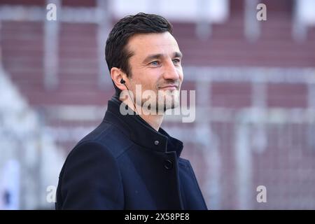
M197 114L162 127L183 140L209 209L315 209L314 0L1 0L0 209L54 207L47 187L113 94L107 34L138 12L174 25Z

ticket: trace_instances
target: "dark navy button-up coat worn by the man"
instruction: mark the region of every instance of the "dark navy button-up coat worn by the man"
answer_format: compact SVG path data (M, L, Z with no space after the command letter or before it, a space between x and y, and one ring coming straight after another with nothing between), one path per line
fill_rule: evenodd
M103 122L69 153L56 209L207 209L183 143L109 101ZM124 105L124 104L123 104Z

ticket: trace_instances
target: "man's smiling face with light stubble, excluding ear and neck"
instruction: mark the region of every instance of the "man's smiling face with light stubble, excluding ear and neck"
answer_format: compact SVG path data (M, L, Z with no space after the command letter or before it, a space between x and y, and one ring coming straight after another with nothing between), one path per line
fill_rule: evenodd
M152 106L156 106L156 111L179 106L179 92L183 82L182 55L174 36L169 32L136 34L128 41L127 49L133 52L129 59L130 90L136 97L141 97L139 106L150 101ZM136 85L141 85L142 92L152 90L155 101L148 95L137 95ZM156 105L153 105L154 102Z

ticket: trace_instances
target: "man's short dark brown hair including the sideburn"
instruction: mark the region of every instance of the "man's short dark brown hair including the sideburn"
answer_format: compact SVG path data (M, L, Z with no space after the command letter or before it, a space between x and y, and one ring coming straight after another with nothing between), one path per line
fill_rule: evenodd
M134 34L164 33L168 31L172 34L172 25L160 15L138 13L137 15L127 15L119 20L111 29L109 38L106 41L105 58L109 72L111 68L117 67L131 76L129 58L133 52L127 50L127 43ZM119 96L121 90L116 87L116 96Z

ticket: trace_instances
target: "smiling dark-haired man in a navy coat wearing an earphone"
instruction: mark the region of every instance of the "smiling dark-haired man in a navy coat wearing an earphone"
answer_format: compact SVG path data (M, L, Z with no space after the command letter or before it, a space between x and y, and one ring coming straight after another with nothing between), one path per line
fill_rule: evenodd
M127 16L105 54L116 95L66 159L56 209L207 209L190 162L179 158L183 143L160 128L163 113L179 106L183 81L172 25Z

